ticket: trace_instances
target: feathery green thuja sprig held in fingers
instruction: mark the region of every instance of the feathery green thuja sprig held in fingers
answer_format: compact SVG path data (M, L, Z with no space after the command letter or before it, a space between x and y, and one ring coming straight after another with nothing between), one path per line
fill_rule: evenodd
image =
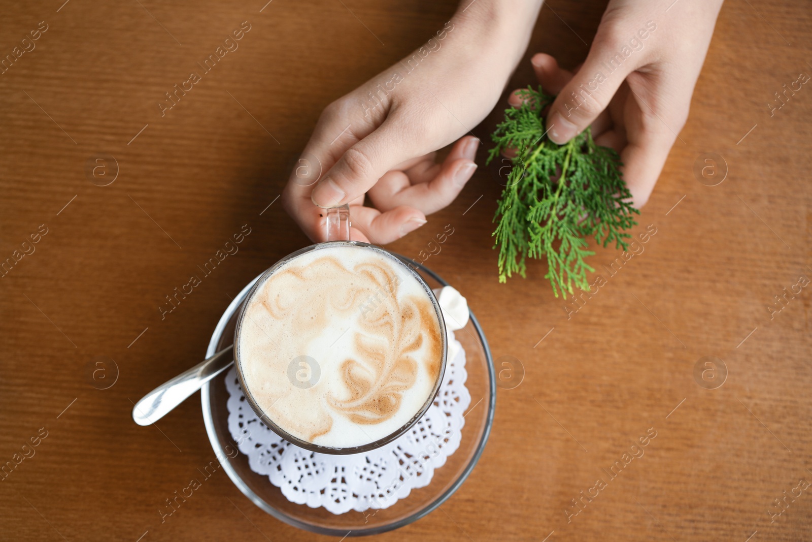
M504 121L491 135L496 146L487 163L513 150L508 183L494 216L498 222L494 248L499 247L499 282L513 273L525 276L526 259L546 258L555 297L566 299L575 288L589 289L586 237L606 247L627 248L625 230L639 211L620 173L620 156L596 145L590 129L564 145L546 135L542 113L555 98L532 87L520 91L523 104L505 110Z

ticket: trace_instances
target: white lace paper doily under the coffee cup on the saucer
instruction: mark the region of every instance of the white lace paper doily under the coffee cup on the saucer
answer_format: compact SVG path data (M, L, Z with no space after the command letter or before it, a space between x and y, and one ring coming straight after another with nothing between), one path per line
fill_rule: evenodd
M453 348L451 343L459 348ZM245 400L236 369L226 376L228 429L248 456L251 470L267 475L289 501L311 508L323 506L333 514L349 510L382 509L408 496L412 488L431 482L434 469L445 464L460 446L463 414L471 404L465 388L465 351L448 332L449 358L434 405L411 431L367 453L314 453L283 440L261 423Z

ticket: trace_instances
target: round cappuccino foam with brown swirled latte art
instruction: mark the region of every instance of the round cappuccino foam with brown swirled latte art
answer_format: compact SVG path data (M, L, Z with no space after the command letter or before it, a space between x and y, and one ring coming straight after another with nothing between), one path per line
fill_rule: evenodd
M380 249L326 245L283 263L245 307L245 392L309 443L351 448L395 433L440 378L442 324L429 296Z

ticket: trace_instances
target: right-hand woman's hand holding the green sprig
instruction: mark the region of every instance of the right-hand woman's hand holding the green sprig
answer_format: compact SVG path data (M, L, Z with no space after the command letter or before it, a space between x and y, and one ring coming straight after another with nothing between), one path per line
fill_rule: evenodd
M646 204L685 125L721 0L611 0L585 62L574 75L549 54L533 68L558 94L547 113L549 137L563 144L592 126L598 145L620 153L634 206ZM516 106L515 94L509 100Z

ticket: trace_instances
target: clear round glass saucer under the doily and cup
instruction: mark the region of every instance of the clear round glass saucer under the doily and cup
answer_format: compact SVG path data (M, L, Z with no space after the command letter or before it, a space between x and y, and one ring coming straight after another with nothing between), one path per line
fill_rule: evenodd
M415 267L431 288L441 288L448 283L427 267L415 264L407 258L395 254L408 265ZM259 277L257 277L258 279ZM226 348L234 342L234 327L240 303L257 281L254 279L231 301L226 312L222 314L214 334L209 341L206 357ZM464 295L464 292L463 292ZM430 514L439 505L456 492L471 470L477 464L490 435L494 423L496 406L496 374L493 359L490 357L485 335L473 312L469 323L455 332L457 340L465 349L465 370L468 379L465 386L471 394L471 406L465 414L465 426L461 431L460 448L448 457L445 465L434 470L434 478L425 488L415 488L404 499L400 499L387 509L367 510L365 513L351 510L344 514L331 514L323 508L310 508L297 505L287 500L281 490L270 483L265 475L259 475L248 466L248 457L237 453L228 457L225 447L228 445L231 455L236 449L228 431L228 391L225 375L204 384L201 388L203 420L209 434L214 453L217 454L223 470L231 481L253 503L280 521L322 535L361 536L375 535L391 531L417 521Z

